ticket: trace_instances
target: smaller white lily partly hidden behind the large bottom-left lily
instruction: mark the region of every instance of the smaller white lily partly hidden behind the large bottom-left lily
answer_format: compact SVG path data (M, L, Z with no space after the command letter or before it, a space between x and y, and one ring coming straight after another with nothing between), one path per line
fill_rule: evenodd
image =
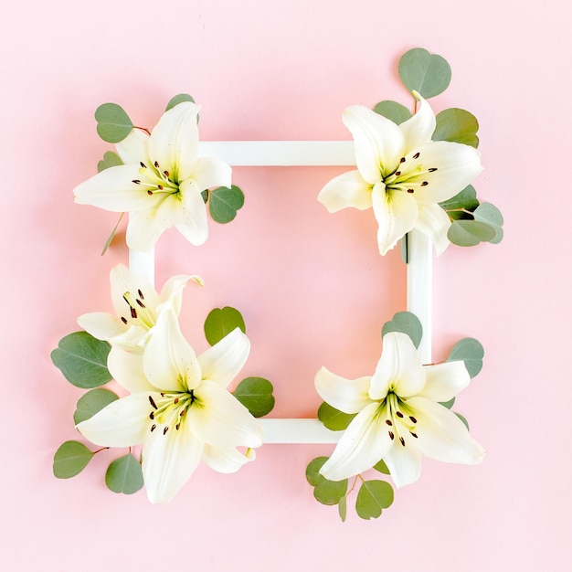
M85 313L79 316L78 323L99 340L141 353L157 321L158 312L166 306L173 308L176 315L181 311L183 288L189 280L203 285L199 276L181 274L166 281L159 294L143 277L118 264L110 272L115 315Z

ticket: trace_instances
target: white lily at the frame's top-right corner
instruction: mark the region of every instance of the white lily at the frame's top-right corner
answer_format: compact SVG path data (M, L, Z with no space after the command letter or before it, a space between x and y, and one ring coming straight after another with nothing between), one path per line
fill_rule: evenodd
M450 219L438 203L482 172L481 154L473 147L431 141L435 114L415 95L419 109L400 125L362 105L344 111L357 170L335 177L318 196L329 212L373 207L382 255L413 228L428 235L440 254L449 245Z

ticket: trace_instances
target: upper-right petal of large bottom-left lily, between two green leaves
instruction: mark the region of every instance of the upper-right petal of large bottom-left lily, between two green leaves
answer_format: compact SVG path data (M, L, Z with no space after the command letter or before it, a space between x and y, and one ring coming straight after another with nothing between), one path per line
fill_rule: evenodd
M224 388L238 375L249 353L249 338L236 328L196 359L201 366L203 379Z

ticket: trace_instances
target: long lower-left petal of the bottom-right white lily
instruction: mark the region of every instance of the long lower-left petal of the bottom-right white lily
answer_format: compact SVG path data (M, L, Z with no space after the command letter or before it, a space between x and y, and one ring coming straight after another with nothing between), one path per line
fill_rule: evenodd
M326 479L342 481L371 469L385 457L393 441L385 423L377 419L378 409L378 403L371 403L344 430L332 456L320 470Z

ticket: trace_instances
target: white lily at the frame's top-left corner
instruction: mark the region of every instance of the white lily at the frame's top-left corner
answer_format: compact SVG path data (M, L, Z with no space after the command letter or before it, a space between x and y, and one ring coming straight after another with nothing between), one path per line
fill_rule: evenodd
M76 202L129 212L127 246L149 251L165 228L175 227L191 244L208 236L202 191L230 186L231 168L198 157L199 106L184 101L165 111L149 136L134 128L117 152L124 164L110 167L74 189Z

